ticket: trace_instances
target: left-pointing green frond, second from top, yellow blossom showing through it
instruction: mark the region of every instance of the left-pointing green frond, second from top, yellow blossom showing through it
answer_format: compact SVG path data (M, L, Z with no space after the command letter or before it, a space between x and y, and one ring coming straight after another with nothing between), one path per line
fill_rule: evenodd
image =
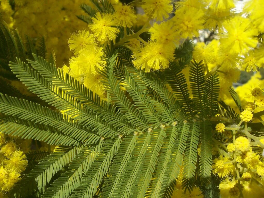
M44 77L44 68L43 73L37 72L36 70L30 68L28 65L25 65L25 63L21 62L20 60L17 60L17 63L11 63L10 67L12 71L17 74L17 78L19 78L32 93L40 96L40 98L48 102L48 104L55 106L59 110L65 110L65 113L67 113L68 115L78 116L83 120L89 119L91 122L91 126L89 125L89 123L86 126L89 127L90 130L94 130L92 126L96 125L101 132L103 131L102 133L100 133L100 135L108 134L108 136L112 137L113 134L116 134L116 132L110 129L108 126L101 124L101 122L99 121L100 119L98 119L97 116L91 117L85 114L84 111L88 110L87 108L81 106L81 102L76 99L78 97L70 97L70 95L67 94L66 91L62 91L61 87L53 85L53 83L51 82L54 78L53 76L51 76L51 79L49 78L49 76ZM56 78L54 80L56 80ZM76 83L78 84L79 82ZM72 89L70 89L70 91L72 91Z

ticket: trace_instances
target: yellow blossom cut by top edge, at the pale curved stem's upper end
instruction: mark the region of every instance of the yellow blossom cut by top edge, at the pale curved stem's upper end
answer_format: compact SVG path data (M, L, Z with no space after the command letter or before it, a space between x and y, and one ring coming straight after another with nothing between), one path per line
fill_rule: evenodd
M173 6L171 0L143 0L142 8L147 15L158 21L168 18Z

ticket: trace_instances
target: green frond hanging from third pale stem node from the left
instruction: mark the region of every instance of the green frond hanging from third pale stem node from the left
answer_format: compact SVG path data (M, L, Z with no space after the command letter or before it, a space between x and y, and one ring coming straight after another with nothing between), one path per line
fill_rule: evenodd
M117 186L122 182L121 175L125 173L125 166L132 157L132 152L136 146L137 136L126 136L122 139L120 148L115 155L112 165L109 168L107 176L104 178L101 197L111 198L114 191L118 190Z

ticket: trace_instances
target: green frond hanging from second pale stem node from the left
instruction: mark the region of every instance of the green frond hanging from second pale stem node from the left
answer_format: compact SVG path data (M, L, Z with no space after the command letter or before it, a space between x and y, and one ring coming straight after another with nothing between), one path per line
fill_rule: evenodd
M103 176L107 173L114 155L118 152L122 140L105 140L100 155L89 167L82 177L81 184L73 191L71 198L93 197L97 186L102 182Z

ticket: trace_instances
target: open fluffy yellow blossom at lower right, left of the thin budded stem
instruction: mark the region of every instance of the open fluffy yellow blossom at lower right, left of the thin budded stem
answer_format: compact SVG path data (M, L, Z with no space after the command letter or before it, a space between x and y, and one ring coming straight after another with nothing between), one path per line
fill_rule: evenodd
M212 172L217 174L219 177L228 176L231 172L233 172L233 164L225 162L229 162L229 160L227 157L223 157L222 155L219 158L214 159Z

